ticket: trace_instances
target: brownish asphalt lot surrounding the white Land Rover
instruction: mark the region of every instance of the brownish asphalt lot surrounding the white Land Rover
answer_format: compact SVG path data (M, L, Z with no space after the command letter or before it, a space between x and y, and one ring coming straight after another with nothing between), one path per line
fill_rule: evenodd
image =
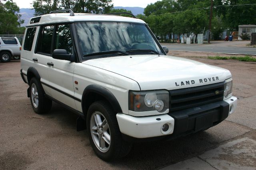
M225 159L255 169L256 145L250 141L256 140L256 63L196 60L230 69L233 94L239 97L237 111L204 132L171 141L134 144L128 156L113 162L104 162L94 154L86 131L76 132L77 116L62 106L53 103L49 113L34 113L26 96L28 85L20 77L20 61L0 62L0 169L141 170L172 164L178 169L182 166L177 162L198 157L206 163L204 158L208 152L218 154L215 148L237 140L247 141L244 138L249 142L243 142L241 147L252 148L249 156L242 154L233 158L220 154L214 161L218 164L219 159ZM230 147L225 150L233 153ZM202 154L206 156L200 156ZM218 169L234 168L225 164Z

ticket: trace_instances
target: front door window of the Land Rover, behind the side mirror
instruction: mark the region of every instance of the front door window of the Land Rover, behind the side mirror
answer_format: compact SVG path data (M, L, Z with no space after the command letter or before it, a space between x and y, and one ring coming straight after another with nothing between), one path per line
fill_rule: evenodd
M56 37L54 41L54 49L66 49L72 54L72 38L69 24L58 25L56 28Z

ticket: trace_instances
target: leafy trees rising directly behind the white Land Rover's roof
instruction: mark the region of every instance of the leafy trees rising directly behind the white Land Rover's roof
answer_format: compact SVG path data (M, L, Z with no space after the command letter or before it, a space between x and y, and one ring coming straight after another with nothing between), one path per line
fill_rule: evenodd
M71 9L77 13L108 13L113 8L112 0L34 0L35 16L49 14L50 11Z

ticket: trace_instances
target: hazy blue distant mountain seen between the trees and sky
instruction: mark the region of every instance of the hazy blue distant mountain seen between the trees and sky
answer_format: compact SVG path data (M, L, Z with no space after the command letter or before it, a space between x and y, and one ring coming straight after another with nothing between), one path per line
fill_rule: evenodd
M135 16L138 14L143 14L144 8L141 7L122 7L122 6L114 6L114 9L125 9L125 10L130 10L132 11L132 14ZM26 26L28 25L28 22L30 18L34 17L35 10L30 9L30 8L20 8L20 14L21 14L21 19L24 20L24 24L21 26Z

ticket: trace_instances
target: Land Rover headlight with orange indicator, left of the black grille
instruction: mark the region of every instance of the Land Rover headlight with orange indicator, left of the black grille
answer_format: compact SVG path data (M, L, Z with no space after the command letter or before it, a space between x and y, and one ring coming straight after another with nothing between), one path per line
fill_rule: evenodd
M129 91L129 110L135 112L158 111L169 109L167 90Z

